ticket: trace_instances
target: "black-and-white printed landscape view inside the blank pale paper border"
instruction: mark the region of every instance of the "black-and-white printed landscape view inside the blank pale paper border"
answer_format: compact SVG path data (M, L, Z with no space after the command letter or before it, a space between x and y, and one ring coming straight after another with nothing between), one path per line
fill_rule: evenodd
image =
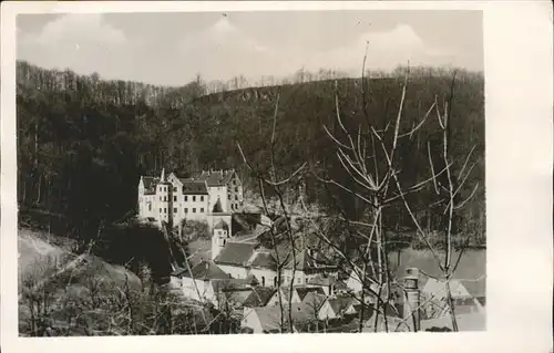
M18 14L19 338L485 332L483 21Z

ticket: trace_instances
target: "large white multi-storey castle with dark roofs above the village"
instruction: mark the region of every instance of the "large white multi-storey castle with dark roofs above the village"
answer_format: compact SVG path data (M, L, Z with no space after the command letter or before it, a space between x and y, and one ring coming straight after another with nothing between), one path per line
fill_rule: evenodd
M203 170L198 176L179 178L165 169L160 177L142 176L138 181L138 218L160 227L182 225L184 220L207 222L215 258L232 235L232 215L242 211L243 184L234 169Z

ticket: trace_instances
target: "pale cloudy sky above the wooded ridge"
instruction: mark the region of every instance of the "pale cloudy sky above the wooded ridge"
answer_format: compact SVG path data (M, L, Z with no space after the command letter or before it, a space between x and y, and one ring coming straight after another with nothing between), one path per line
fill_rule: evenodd
M184 85L299 69L483 70L480 11L265 11L20 14L18 60L103 79Z

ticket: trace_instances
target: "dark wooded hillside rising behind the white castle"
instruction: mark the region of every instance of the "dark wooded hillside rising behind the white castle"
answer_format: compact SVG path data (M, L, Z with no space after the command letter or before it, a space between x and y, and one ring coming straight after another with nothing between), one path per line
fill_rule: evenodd
M335 81L310 75L319 81L305 82L302 75L301 83L234 91L222 87L208 94L214 90L201 76L182 87L162 87L44 70L27 62L17 65L20 207L63 215L83 240L96 235L101 224L119 221L135 210L141 174L158 174L163 167L183 176L206 168L235 168L246 188L252 186L236 144L240 142L253 164L268 168L277 96L278 169L285 174L308 162L304 179L309 201L329 211L342 208L360 218L360 203L325 187L314 176L348 180L322 126L339 132L337 93L346 125L357 126L365 118L366 102L371 123L384 128L396 117L402 87L399 74L366 79L363 98L361 79ZM452 86L450 71L419 68L411 72L404 131L421 121L435 96L441 104L448 100ZM470 176L473 180L460 197L468 196L475 183L482 185L464 207L458 228L480 237L484 237L483 89L482 74L458 73L450 114L455 167L461 167L473 146L473 160L478 160ZM423 128L402 138L398 163L407 186L430 175L427 141L441 138L437 125L437 116L431 114ZM435 167L440 168L439 162ZM434 211L427 207L425 193L418 193L413 203L432 228ZM389 215L391 228L410 226L401 207Z

